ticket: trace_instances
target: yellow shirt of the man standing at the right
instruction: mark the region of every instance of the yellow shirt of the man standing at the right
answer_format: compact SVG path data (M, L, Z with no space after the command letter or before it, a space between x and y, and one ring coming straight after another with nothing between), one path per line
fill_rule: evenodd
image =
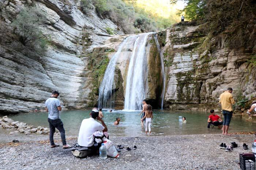
M235 100L230 92L225 91L219 96L219 103L221 103L222 110L232 111L232 104Z

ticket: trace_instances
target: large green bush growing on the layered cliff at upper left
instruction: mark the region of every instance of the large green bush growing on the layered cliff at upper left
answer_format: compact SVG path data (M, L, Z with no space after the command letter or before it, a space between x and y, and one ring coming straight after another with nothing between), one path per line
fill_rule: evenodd
M15 33L25 46L35 52L44 52L50 38L44 35L41 26L46 21L45 13L37 7L24 7L12 22Z

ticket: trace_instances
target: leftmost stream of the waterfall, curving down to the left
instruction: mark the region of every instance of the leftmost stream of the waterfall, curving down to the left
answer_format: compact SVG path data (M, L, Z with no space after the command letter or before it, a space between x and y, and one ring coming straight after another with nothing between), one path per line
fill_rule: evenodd
M99 98L98 106L101 108L112 108L112 92L114 91L114 75L116 68L116 61L121 51L123 50L125 43L129 37L124 39L119 45L117 52L112 56L109 61L108 67L106 68L103 80L99 86Z

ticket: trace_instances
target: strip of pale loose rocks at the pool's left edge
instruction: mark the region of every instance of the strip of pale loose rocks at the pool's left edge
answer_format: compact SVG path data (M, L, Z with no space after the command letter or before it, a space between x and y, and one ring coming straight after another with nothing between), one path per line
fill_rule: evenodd
M47 135L50 133L50 129L48 127L34 127L33 125L27 125L27 123L14 121L7 116L0 117L0 127L5 130L15 130L11 131L9 134L13 135L16 133L24 133L25 135L36 133L36 134L44 134ZM59 134L59 131L56 129L56 134Z

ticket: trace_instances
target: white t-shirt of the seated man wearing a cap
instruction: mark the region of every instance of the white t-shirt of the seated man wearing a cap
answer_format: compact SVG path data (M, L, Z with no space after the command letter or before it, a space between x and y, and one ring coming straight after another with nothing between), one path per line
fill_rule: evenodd
M102 124L97 122L95 119L83 119L78 135L78 145L84 147L93 146L93 133L97 130L102 131L103 129L105 129L105 127L102 126Z

